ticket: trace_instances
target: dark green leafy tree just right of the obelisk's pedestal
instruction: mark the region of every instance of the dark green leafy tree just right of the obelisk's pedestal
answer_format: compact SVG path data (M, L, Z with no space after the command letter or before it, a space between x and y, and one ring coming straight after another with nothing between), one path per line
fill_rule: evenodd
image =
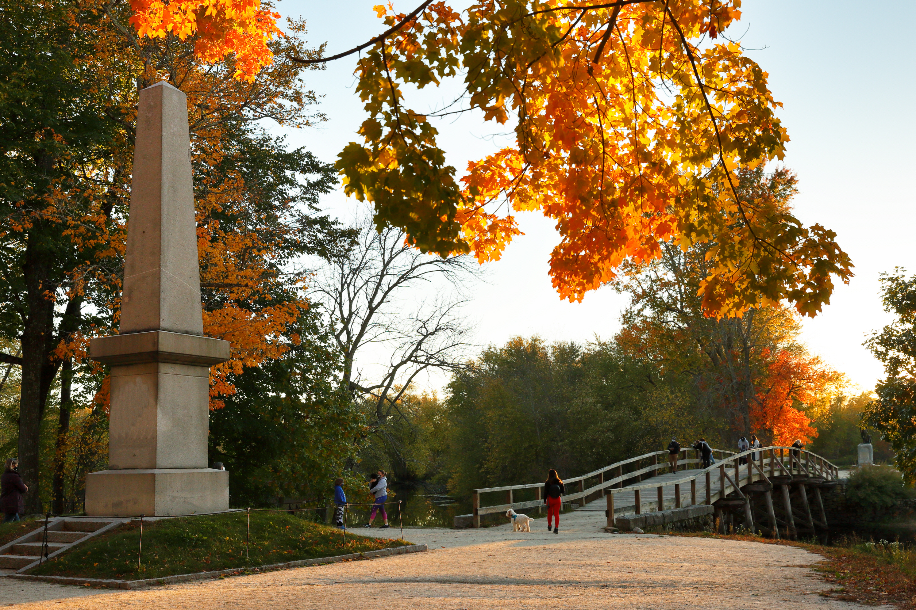
M235 394L210 416L210 456L230 471L233 506L328 496L365 434L365 418L337 381L341 359L317 314L292 329L277 360L232 376Z

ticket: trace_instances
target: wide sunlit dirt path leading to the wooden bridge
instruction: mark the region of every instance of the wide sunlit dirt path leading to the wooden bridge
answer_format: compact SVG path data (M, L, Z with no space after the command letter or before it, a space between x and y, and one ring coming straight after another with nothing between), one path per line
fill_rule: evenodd
M818 595L829 585L793 547L720 539L605 534L584 511L510 526L405 529L425 553L158 586L92 590L0 578L0 605L24 608L859 608ZM366 533L369 530L363 530ZM373 534L398 530L373 529Z

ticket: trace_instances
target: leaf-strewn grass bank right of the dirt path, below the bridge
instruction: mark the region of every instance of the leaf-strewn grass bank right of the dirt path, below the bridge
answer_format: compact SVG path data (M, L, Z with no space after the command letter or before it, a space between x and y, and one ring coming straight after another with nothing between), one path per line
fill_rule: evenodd
M898 608L916 610L916 583L913 581L916 577L916 551L913 550L859 539L846 540L845 544L838 546L824 546L741 534L722 536L709 532L660 533L669 536L746 540L801 547L823 555L824 561L812 569L821 572L828 583L837 585L822 595L864 605L892 604Z

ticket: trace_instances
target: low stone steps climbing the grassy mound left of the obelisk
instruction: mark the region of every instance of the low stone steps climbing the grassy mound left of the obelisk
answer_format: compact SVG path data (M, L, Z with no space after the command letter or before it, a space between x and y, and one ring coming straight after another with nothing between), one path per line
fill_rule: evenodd
M116 528L128 519L86 519L80 517L52 517L48 521L48 558ZM0 547L0 569L25 572L38 564L44 555L45 524Z

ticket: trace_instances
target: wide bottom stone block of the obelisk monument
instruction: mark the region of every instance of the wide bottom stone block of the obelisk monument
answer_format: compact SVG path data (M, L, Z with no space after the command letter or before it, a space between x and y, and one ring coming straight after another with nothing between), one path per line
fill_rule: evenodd
M229 508L229 473L213 468L103 470L86 475L86 515L169 517Z

